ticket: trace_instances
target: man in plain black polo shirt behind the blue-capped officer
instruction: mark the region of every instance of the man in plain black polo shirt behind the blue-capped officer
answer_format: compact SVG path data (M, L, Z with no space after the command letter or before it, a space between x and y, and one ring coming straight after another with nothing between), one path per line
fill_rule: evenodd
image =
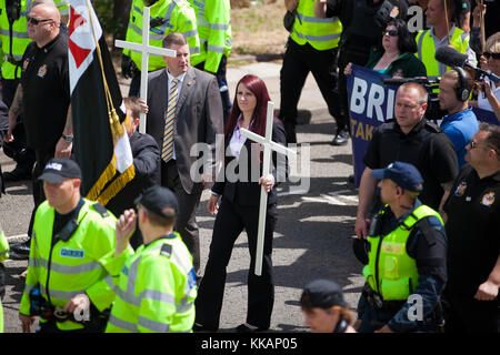
M373 169L382 169L394 161L413 164L422 174L423 192L420 201L440 210L458 174L453 143L434 124L423 119L428 94L414 82L402 84L396 94L396 120L390 120L373 131L363 162L367 168L359 186L359 204L354 231L367 237L370 205L376 197L377 180ZM379 201L377 199L376 201ZM378 211L374 206L372 211Z

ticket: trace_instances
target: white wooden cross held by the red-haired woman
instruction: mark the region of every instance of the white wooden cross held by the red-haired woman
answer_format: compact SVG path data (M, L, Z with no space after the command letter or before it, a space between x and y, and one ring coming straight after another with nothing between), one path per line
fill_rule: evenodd
M262 163L262 176L269 175L269 169L271 165L271 151L277 151L278 153L284 155L296 155L296 151L284 148L272 141L272 119L274 116L274 103L268 102L268 115L266 119L266 138L260 136L249 130L241 129L241 135L260 143L263 145L263 163ZM263 244L264 244L264 233L266 233L266 213L268 211L268 193L264 186L260 187L260 206L259 206L259 229L257 234L257 260L256 260L256 275L260 276L262 274L262 256L263 256Z

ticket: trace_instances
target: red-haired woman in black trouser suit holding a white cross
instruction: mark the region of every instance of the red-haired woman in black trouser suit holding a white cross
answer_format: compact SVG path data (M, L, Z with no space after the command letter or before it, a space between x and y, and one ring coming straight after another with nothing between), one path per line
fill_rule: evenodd
M266 133L267 105L270 101L264 82L256 75L244 75L237 85L233 109L224 129L226 162L212 187L208 211L216 214L210 253L196 300L197 315L193 331L219 328L226 285L227 266L234 242L244 230L248 235L250 267L248 273L247 321L237 332L258 332L269 328L274 303L272 276L272 234L277 221L277 170L262 174L260 145L241 134L247 129L261 136ZM281 121L273 119L272 140L286 145ZM277 155L273 154L274 166ZM280 168L281 165L278 165ZM280 169L279 169L280 171ZM280 171L281 173L281 171ZM260 176L260 178L259 178ZM282 176L282 175L279 175ZM261 185L268 193L262 272L253 273L259 221Z

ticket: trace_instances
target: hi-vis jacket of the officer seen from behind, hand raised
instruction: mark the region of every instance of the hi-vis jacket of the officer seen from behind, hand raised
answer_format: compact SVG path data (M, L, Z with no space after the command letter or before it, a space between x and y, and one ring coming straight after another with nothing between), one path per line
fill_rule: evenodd
M108 278L117 298L107 333L191 332L197 281L192 256L178 233L141 245L120 276Z

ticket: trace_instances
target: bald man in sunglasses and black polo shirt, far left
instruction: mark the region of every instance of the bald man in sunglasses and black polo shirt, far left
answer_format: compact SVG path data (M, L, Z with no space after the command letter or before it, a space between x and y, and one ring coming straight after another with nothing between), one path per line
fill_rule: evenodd
M28 34L33 41L22 58L21 84L9 112L6 141L13 141L12 131L22 109L27 145L34 150L37 158L32 174L34 209L28 230L30 235L34 211L44 200L38 176L51 158L70 158L73 133L68 34L60 31L61 16L53 3L40 3L31 9L27 19ZM13 247L13 251L29 253L28 245Z

